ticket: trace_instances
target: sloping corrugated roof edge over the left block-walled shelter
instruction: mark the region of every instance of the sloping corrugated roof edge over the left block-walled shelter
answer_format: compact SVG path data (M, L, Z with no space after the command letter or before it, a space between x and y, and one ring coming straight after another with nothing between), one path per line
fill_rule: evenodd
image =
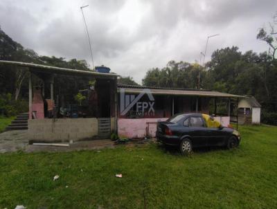
M60 74L73 74L73 75L91 75L98 78L115 78L118 75L115 73L98 73L94 71L80 71L77 69L64 69L55 66L46 66L42 64L33 64L27 62L14 62L14 61L6 61L0 60L0 64L12 64L15 66L25 66L31 69L31 71L39 71L42 73L60 73Z

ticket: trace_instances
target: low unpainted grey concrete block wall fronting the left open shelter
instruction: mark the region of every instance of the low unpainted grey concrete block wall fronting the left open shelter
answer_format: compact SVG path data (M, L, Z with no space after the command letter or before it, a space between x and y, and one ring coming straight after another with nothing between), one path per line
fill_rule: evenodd
M68 141L98 135L97 118L29 119L29 140Z

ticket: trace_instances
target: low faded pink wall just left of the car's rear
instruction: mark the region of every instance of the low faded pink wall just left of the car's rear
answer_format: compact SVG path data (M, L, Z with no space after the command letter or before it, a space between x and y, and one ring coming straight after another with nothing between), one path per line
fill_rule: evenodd
M168 118L139 118L139 119L125 119L118 118L118 135L127 138L143 138L146 136L146 122L164 121ZM156 135L157 124L149 125L149 134L154 137Z

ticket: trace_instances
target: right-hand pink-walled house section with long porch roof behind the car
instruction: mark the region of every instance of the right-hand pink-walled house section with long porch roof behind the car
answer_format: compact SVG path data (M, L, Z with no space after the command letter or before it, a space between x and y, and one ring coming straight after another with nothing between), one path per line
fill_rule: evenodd
M243 97L218 91L118 84L118 135L155 136L158 121L184 112L213 114L227 127L231 117L237 119L238 98Z

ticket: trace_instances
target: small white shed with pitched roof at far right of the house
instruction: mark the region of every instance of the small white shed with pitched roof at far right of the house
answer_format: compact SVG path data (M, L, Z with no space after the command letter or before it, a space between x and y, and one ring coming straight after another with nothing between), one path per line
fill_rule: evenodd
M262 106L253 96L242 98L238 102L239 123L260 124L260 108Z

